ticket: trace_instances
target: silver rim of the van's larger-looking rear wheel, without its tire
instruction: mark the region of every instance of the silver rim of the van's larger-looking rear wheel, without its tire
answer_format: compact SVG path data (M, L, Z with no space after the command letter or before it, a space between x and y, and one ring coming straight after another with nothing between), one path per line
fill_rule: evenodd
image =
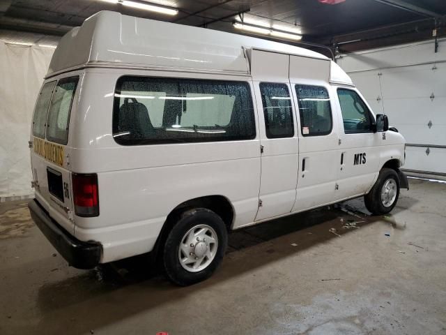
M181 239L178 260L183 269L198 272L212 263L217 248L218 237L215 230L208 225L196 225Z

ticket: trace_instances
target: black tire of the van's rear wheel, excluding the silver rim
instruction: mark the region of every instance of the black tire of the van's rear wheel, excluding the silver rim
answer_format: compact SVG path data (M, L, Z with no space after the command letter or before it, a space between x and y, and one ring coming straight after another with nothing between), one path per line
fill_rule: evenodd
M196 225L208 225L217 234L215 256L209 265L197 272L190 272L183 268L179 260L179 249L185 234ZM209 278L222 262L228 234L222 218L213 211L205 208L189 209L180 214L178 221L169 232L163 248L163 263L169 280L180 286L192 285Z

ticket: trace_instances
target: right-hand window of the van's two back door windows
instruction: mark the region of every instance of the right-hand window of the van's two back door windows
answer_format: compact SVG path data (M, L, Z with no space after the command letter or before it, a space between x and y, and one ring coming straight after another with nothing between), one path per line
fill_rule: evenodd
M79 77L63 78L57 82L48 111L47 140L60 144L68 142L70 110Z

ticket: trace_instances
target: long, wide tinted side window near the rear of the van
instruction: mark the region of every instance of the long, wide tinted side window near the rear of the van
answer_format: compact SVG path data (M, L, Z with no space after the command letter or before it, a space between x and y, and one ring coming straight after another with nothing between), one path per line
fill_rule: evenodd
M121 77L114 94L113 137L122 145L253 139L249 85Z

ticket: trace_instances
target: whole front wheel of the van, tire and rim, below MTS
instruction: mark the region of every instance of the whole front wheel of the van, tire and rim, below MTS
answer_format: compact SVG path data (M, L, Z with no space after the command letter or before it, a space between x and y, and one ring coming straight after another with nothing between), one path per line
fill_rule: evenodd
M369 194L364 195L365 207L374 215L390 213L399 197L399 177L395 170L383 168Z

